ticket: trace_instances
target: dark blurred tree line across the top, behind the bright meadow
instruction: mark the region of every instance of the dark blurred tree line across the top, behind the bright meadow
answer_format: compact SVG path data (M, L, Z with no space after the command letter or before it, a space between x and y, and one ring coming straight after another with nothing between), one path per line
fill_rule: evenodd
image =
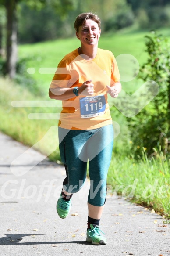
M122 29L136 20L141 28L156 29L156 26L170 25L168 4L169 0L0 0L0 54L5 37L5 72L14 78L17 43L72 36L74 19L81 12L98 14L103 31ZM6 25L2 22L2 8Z

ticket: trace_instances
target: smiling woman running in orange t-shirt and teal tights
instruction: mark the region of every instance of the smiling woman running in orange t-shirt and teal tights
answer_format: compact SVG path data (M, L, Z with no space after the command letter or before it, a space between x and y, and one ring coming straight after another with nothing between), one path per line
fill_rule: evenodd
M89 161L87 242L105 245L99 228L106 202L106 179L113 149L113 125L107 94L116 98L121 90L120 75L113 53L98 48L100 19L82 13L75 20L81 47L59 63L50 84L49 96L60 100L59 148L66 169L57 213L66 218L71 197L83 186Z

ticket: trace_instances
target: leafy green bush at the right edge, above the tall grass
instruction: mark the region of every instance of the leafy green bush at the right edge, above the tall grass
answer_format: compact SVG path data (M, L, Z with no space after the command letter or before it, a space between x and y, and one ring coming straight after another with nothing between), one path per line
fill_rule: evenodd
M159 84L159 94L134 118L127 119L131 137L136 146L152 148L161 146L164 154L170 154L170 44L156 32L145 36L147 62L142 65L138 78L154 80Z

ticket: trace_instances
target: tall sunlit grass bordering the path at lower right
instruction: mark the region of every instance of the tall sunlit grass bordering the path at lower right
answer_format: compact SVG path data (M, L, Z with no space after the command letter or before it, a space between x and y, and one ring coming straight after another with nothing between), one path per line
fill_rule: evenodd
M170 159L157 155L143 157L113 155L107 183L109 190L132 202L154 209L156 213L170 218Z

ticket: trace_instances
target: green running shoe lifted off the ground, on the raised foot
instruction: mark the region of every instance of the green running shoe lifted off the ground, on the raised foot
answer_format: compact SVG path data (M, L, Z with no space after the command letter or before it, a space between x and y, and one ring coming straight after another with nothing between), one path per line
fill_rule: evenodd
M65 219L70 212L71 209L71 199L69 201L65 201L60 194L60 198L57 201L57 213L60 218Z

